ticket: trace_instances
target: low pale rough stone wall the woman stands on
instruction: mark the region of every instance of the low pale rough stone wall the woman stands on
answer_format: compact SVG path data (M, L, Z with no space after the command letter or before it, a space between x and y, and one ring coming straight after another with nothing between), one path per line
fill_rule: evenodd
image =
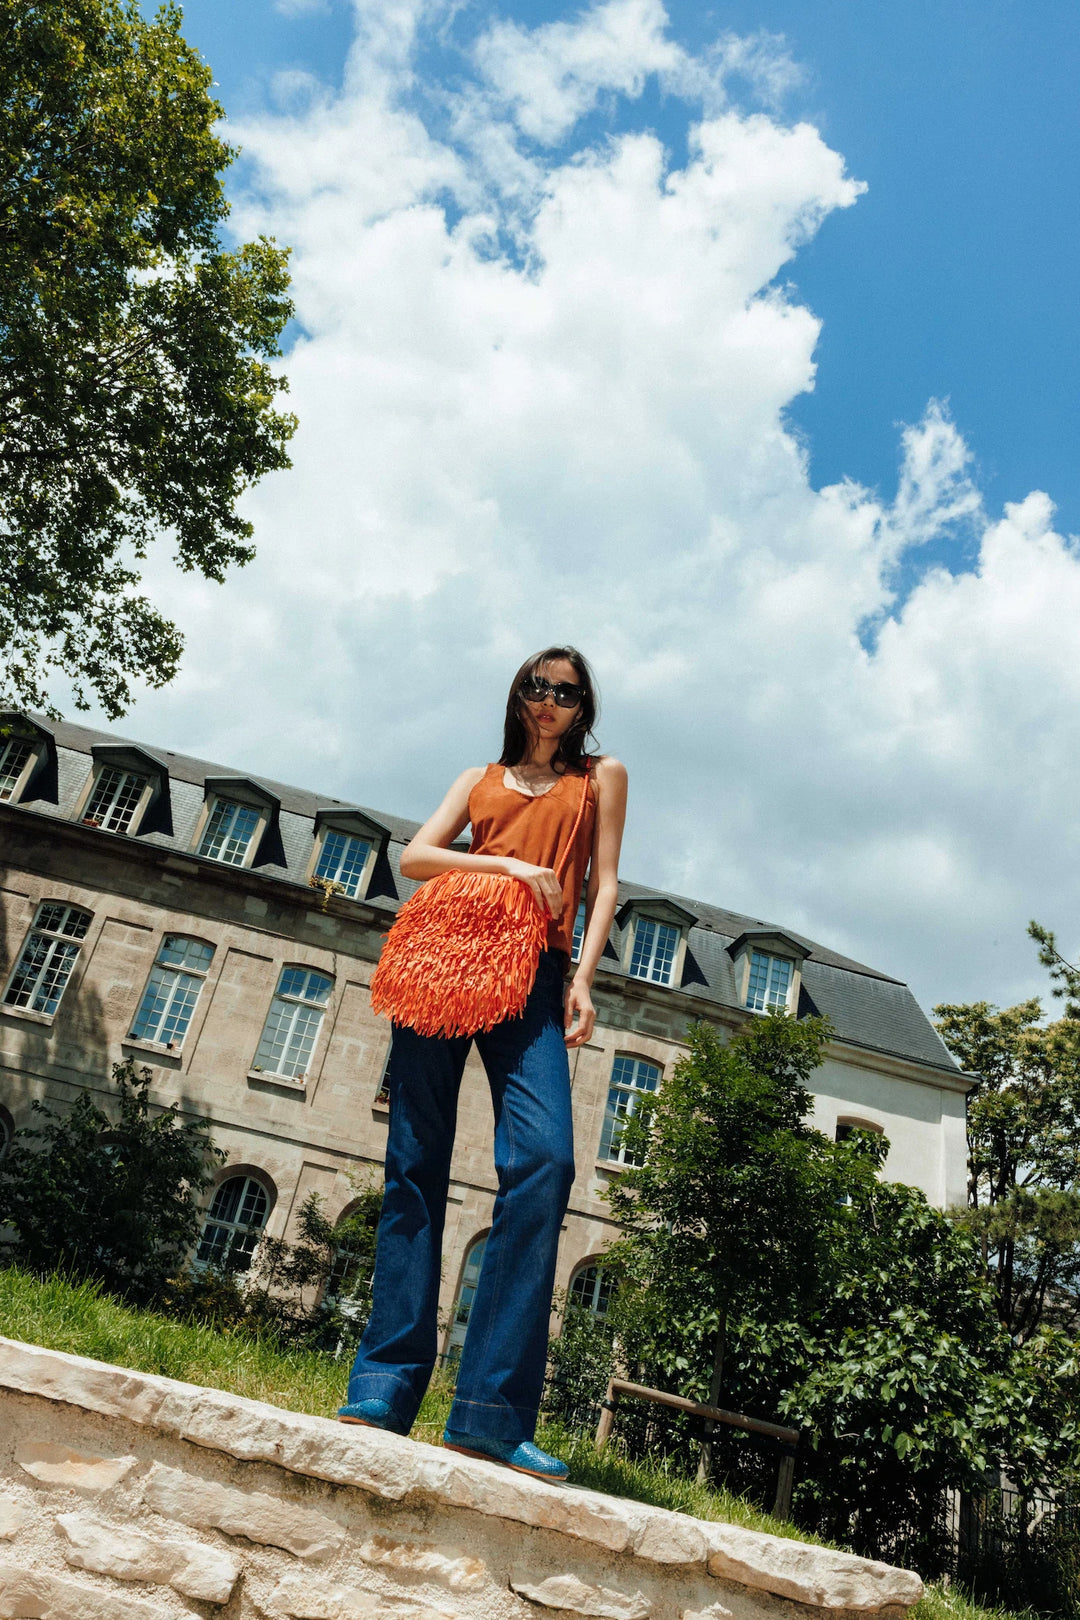
M0 1340L0 1620L902 1620L916 1576Z

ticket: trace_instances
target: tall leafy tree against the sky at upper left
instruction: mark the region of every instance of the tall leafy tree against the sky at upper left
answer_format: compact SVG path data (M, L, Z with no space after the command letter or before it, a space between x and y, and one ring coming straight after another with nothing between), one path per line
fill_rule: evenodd
M287 253L225 251L235 152L181 13L0 0L0 701L50 671L117 718L181 637L139 595L170 535L222 580L253 556L240 494L288 467ZM55 713L55 711L53 711Z

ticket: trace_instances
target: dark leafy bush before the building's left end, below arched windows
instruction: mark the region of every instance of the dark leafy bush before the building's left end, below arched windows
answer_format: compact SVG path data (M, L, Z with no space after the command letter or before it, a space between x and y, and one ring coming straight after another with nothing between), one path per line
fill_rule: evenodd
M66 1115L32 1105L45 1123L16 1131L0 1160L0 1223L32 1270L97 1278L151 1304L191 1252L225 1155L206 1119L151 1103L151 1069L117 1063L113 1081L115 1113L89 1092Z

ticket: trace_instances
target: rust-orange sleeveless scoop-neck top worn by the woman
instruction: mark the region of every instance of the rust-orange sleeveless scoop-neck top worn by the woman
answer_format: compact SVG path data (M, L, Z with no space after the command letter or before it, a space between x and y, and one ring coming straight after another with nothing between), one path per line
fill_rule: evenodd
M529 797L507 787L504 765L489 765L468 799L471 855L513 855L533 867L559 865L581 804L581 778L560 776L554 787ZM585 870L593 852L596 781L589 781L585 815L562 875L562 917L547 925L547 948L570 956Z

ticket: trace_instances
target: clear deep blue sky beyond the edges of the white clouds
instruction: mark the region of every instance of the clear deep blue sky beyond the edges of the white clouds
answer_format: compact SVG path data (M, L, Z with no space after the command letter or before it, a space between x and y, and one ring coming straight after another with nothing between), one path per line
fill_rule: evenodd
M492 8L466 6L468 40ZM674 32L782 34L801 70L785 118L808 118L868 183L785 271L824 321L813 394L793 402L814 483L892 491L897 423L947 399L991 510L1046 489L1080 531L1080 15L1074 0L674 0ZM507 0L529 24L573 8ZM249 113L275 73L340 84L351 8L283 15L267 0L189 0L185 31L227 113ZM453 70L453 52L432 68ZM682 109L646 94L675 151ZM596 123L619 126L614 109ZM942 561L962 565L957 549Z

